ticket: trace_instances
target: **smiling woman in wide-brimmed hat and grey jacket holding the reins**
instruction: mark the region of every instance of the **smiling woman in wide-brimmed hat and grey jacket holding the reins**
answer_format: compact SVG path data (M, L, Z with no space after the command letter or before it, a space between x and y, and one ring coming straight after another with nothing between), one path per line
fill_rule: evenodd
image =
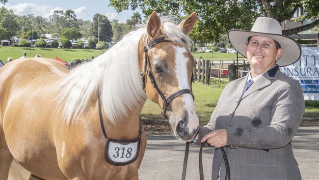
M232 180L301 180L291 141L305 103L300 84L279 70L299 59L300 46L265 17L251 31L230 30L228 37L251 71L225 87L195 143L226 147ZM213 180L225 177L222 159L215 150Z

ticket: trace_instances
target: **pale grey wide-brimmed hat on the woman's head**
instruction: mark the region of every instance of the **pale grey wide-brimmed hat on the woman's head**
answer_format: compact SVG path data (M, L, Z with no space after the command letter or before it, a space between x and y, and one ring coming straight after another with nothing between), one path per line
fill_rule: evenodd
M244 57L246 56L244 44L250 36L265 36L277 41L283 49L283 54L277 60L279 66L286 66L296 62L301 56L299 43L292 38L282 35L279 22L272 18L259 17L251 30L229 30L228 39L232 46Z

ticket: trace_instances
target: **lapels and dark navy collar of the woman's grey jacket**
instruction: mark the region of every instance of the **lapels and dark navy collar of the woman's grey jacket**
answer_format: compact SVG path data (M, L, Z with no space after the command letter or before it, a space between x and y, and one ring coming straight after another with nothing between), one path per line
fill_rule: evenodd
M272 67L270 70L268 70L266 73L264 73L258 81L254 82L251 87L242 95L241 99L248 96L249 94L255 92L256 90L260 90L265 88L266 86L269 86L272 84L271 80L276 79L278 77L280 70L279 66L276 64L274 67ZM246 85L247 79L249 74L245 76L245 78L239 83L239 91L238 95L239 97L242 94L242 91Z

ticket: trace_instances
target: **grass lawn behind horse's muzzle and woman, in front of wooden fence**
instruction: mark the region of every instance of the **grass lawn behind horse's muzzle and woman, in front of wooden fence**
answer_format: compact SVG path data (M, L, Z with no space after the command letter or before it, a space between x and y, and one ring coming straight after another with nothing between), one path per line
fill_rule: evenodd
M207 124L210 120L221 91L227 84L222 82L221 88L218 89L216 82L217 81L213 81L212 86L203 85L198 82L193 83L195 109L201 125ZM146 120L162 121L163 119L161 118L160 111L161 108L148 99L143 107L141 117ZM306 101L304 117L319 118L319 101Z

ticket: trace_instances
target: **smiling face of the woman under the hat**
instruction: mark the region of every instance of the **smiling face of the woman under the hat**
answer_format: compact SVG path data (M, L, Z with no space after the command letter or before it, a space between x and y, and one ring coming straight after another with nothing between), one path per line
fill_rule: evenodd
M245 44L245 52L254 75L267 72L282 55L282 49L276 49L275 42L264 36L252 36ZM253 74L252 74L253 75Z

